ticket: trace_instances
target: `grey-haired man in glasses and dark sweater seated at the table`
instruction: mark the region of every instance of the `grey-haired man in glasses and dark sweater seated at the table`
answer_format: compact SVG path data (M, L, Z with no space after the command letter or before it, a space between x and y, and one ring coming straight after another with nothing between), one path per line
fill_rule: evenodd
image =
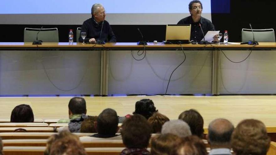
M82 24L82 32L86 32L84 42L96 43L97 40L104 42L116 42L115 34L113 33L109 23L105 19L105 9L101 4L94 4L91 8L92 18L87 19ZM79 42L83 42L80 35Z

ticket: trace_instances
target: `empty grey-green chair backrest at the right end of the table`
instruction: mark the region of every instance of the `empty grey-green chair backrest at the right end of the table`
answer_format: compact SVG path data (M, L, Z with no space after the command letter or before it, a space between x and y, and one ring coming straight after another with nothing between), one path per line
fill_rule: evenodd
M255 41L258 42L275 42L275 32L270 29L253 29ZM251 29L243 28L241 30L241 42L253 41Z

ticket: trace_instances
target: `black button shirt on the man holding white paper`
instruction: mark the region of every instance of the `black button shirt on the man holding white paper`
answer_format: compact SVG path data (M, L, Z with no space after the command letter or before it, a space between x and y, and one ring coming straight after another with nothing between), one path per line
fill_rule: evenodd
M191 40L196 40L197 42L201 41L204 37L202 31L199 27L199 23L202 27L204 35L208 31L215 31L215 27L212 22L206 18L201 17L199 22L194 23L192 16L188 16L186 18L181 19L177 24L191 24Z

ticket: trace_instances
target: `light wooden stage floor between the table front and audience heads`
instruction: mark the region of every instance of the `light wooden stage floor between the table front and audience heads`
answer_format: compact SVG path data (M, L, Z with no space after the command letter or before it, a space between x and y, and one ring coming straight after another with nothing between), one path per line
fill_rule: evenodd
M71 97L0 97L0 119L9 119L14 106L28 104L37 119L68 118ZM87 114L98 115L113 108L119 116L132 114L135 102L149 98L158 111L170 119L188 109L196 109L204 118L204 128L215 118L229 119L235 126L246 118L261 120L267 127L276 127L276 96L116 96L84 97Z

